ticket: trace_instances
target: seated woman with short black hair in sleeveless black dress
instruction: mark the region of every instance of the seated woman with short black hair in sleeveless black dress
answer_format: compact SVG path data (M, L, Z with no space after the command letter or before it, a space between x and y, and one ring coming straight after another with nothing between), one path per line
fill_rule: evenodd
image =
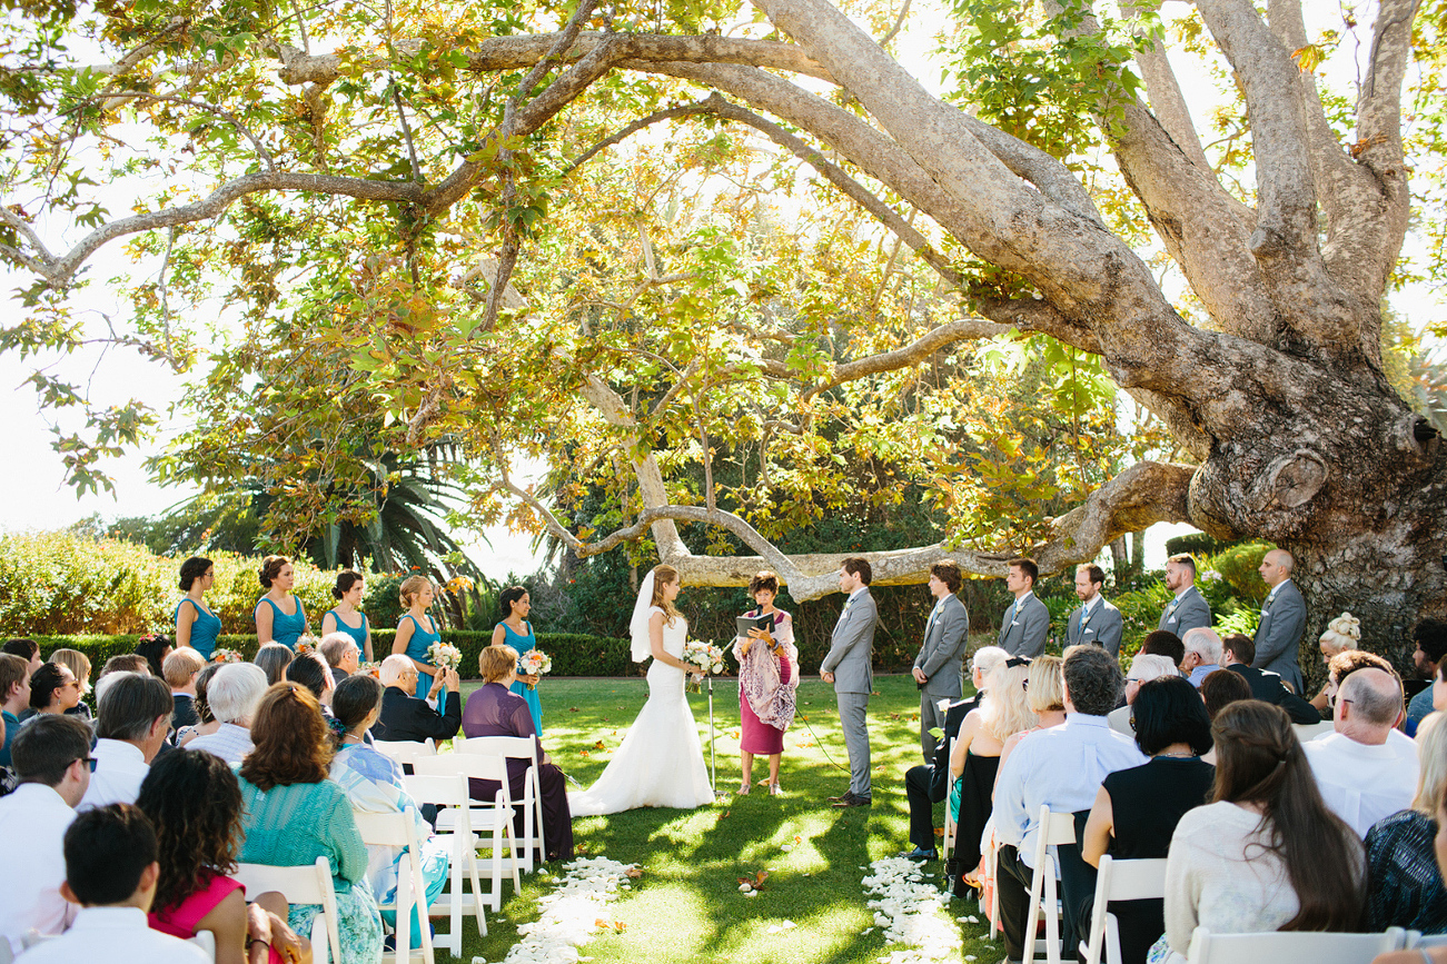
M1132 705L1136 745L1150 763L1111 773L1095 793L1081 838L1081 855L1091 867L1100 867L1107 853L1116 860L1163 858L1176 822L1207 802L1215 780L1215 769L1201 760L1211 748L1211 721L1191 683L1179 676L1153 679ZM1110 912L1120 926L1121 961L1143 964L1165 931L1162 902L1119 900Z

